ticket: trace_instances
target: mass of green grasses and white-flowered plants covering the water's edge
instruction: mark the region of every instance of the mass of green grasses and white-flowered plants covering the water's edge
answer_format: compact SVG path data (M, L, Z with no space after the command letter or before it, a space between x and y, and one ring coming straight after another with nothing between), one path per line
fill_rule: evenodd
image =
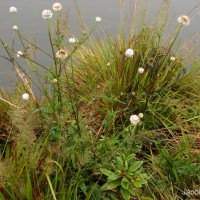
M50 53L16 25L23 49L1 40L19 78L0 97L1 199L196 198L200 61L195 45L177 43L190 19L181 16L167 36L160 10L161 22L141 19L138 28L135 14L129 34L122 23L116 38L95 37L97 17L77 38L61 26L61 8L54 4L55 18L42 14Z

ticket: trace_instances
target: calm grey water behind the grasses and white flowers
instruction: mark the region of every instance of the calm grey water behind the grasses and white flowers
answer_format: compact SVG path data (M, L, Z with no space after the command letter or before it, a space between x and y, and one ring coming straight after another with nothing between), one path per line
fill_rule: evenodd
M130 1L123 1L125 19L130 11ZM135 1L132 0L133 3ZM137 0L139 3L141 1ZM149 15L154 16L163 1L143 0L143 4L147 7ZM41 13L44 9L52 10L54 2L53 0L0 0L0 38L10 45L13 35L12 27L16 24L23 35L28 38L34 37L40 47L49 49L47 23L42 19ZM63 10L69 17L71 30L76 34L77 31L80 31L80 23L77 20L74 1L60 0L59 2L63 5ZM103 29L107 33L116 35L120 21L121 7L119 0L77 0L77 3L82 11L85 23L89 27L95 23L95 17L100 16L102 18L101 24ZM172 27L176 25L178 16L187 14L198 3L200 3L200 0L174 0L169 9L169 18L172 19ZM15 6L18 9L14 24L12 14L9 13L11 6ZM200 12L200 8L195 9L189 16L193 18L198 12ZM185 28L181 37L184 39L186 35L188 37L195 32L200 32L200 15L192 19L191 25ZM18 43L15 44L16 50L18 45ZM2 47L0 47L0 55L5 55ZM16 76L11 64L0 58L0 86L4 89L12 88L12 82L15 82L15 80Z

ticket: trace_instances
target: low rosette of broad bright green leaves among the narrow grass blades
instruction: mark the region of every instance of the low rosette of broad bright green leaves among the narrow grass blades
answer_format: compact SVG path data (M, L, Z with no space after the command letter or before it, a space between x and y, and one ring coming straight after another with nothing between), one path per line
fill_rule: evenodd
M142 173L142 165L143 161L135 161L135 154L116 157L112 171L100 169L101 173L107 176L107 182L101 189L119 191L125 200L137 196L140 188L147 183L147 175Z

